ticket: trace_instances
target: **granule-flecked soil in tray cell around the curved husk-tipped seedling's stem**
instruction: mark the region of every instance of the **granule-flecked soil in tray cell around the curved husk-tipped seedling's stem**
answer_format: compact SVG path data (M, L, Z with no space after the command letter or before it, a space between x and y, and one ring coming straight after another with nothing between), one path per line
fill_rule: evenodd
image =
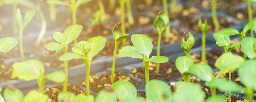
M136 88L141 86L135 79L132 79L128 76L124 76L121 72L115 71L116 77L114 78L115 82L118 80L125 80L131 82ZM104 73L102 76L92 76L90 78L90 90L98 93L100 90L103 90L105 86L111 86L111 71ZM86 79L84 78L82 85L86 87Z

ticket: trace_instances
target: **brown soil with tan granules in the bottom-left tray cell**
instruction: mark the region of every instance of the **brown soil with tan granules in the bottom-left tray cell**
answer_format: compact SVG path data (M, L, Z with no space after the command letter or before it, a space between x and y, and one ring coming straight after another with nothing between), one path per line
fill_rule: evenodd
M44 88L44 92L45 92L44 94L48 95L49 98L55 102L58 102L58 94L61 93L62 91L63 91L62 85L57 85L57 86L54 86L53 88ZM86 92L84 92L83 89L77 85L68 84L67 91L74 93L75 95L80 93L83 93L84 95L86 94Z

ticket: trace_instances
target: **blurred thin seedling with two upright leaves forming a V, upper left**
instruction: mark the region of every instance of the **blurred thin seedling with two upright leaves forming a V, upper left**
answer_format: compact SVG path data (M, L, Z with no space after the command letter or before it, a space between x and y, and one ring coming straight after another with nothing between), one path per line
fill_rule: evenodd
M17 9L16 15L17 15L16 19L17 19L17 22L18 22L19 28L20 28L20 33L19 33L19 37L20 37L20 55L22 57L22 60L25 61L25 56L24 56L24 52L23 52L23 45L22 45L22 33L23 33L23 30L27 27L28 23L34 17L35 11L34 10L29 10L28 12L26 12L24 20L21 16L20 9Z

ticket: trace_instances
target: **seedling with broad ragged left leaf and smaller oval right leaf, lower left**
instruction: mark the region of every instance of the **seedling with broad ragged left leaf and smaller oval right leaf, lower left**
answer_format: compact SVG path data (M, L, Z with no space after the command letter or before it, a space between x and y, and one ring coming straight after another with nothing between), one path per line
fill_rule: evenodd
M12 67L12 79L16 77L25 81L37 79L40 92L42 93L44 93L44 83L47 79L55 83L62 83L65 80L65 74L63 72L53 72L44 77L44 65L38 60L16 62L12 65Z

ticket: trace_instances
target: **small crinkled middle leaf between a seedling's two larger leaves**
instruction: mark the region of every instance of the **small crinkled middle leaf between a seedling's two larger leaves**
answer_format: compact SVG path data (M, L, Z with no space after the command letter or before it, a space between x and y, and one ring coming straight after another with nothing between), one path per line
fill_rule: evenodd
M72 48L72 51L76 54L85 56L85 53L90 49L90 44L86 41L80 41Z

